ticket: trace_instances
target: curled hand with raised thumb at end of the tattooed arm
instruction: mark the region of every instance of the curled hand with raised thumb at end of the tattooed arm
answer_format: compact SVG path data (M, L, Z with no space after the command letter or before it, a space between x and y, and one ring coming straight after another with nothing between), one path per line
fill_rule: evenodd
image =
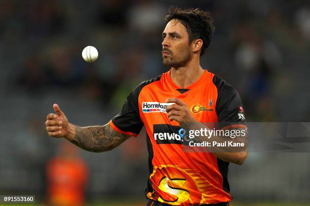
M57 104L53 105L53 109L56 114L48 114L46 131L51 137L65 137L68 133L68 119Z

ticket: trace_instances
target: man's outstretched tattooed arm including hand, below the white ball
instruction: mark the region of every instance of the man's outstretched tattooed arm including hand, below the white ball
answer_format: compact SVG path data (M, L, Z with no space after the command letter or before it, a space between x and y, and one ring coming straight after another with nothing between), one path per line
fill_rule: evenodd
M104 126L79 127L68 123L65 114L54 104L56 114L49 114L45 122L49 136L64 137L73 144L93 152L108 151L128 139L131 135L115 131L109 123Z

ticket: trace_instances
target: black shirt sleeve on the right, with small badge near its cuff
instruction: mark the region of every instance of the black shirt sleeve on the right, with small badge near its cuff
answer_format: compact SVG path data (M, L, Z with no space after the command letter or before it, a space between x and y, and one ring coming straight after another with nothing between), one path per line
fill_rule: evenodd
M238 91L224 80L220 79L219 81L221 82L218 86L216 102L219 128L244 127L245 115Z

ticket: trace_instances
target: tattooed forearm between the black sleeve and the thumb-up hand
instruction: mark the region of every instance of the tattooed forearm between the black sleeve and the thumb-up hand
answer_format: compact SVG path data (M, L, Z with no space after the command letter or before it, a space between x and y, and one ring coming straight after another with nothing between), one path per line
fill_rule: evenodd
M93 152L111 150L130 137L130 135L115 131L109 124L94 127L74 127L75 137L71 142Z

